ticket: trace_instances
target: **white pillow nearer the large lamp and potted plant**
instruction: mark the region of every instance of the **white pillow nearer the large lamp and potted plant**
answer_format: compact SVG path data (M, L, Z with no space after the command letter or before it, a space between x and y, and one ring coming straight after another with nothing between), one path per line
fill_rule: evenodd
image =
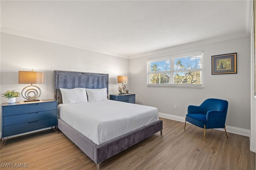
M87 103L85 88L60 89L63 104Z

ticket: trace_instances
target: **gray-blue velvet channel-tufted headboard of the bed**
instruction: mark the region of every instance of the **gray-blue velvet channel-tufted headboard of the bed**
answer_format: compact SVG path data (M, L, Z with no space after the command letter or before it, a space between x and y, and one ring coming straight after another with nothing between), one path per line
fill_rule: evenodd
M54 70L54 100L57 100L58 104L62 103L60 88L74 89L78 87L87 89L106 87L108 93L108 74Z

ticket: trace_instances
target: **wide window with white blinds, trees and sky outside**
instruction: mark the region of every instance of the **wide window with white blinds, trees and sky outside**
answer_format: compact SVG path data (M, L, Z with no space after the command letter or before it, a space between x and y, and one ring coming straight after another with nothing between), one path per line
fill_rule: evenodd
M202 87L202 56L200 51L148 60L148 86Z

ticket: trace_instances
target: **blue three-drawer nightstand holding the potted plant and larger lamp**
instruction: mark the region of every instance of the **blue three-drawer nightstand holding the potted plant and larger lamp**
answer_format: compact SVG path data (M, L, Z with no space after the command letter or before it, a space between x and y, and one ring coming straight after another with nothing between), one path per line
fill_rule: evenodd
M57 126L57 101L2 103L1 148L8 136L48 127L58 132Z

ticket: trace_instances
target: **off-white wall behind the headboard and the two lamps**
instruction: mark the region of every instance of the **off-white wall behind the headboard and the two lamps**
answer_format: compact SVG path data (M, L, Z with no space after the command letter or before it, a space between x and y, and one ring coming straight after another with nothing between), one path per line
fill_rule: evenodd
M18 84L18 71L31 69L45 72L45 83L38 84L42 90L39 99L53 99L54 70L108 73L109 94L118 93L117 75L130 77L129 59L1 33L0 93L12 89L21 92L26 84ZM1 98L4 102L7 99Z

